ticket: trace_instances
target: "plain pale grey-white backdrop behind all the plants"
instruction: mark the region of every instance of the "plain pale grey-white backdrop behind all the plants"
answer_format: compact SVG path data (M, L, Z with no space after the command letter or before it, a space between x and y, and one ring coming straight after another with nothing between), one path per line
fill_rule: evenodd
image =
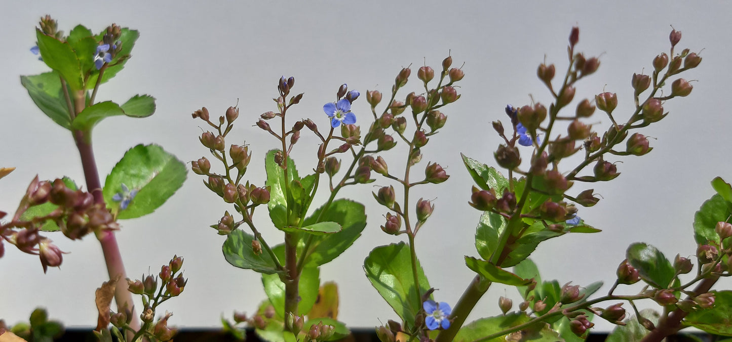
M529 95L539 102L550 102L535 76L536 67L546 59L556 64L561 76L567 67L567 37L572 26L580 26L578 50L601 60L596 75L578 84L575 103L602 91L617 92L616 115L622 120L632 111L631 75L650 73L652 58L668 53L671 25L683 32L679 47L703 49L703 62L681 76L698 80L692 83L692 94L667 102L668 118L642 131L654 138L654 151L642 158L618 159L623 161L618 164L622 175L611 183L593 185L603 199L594 208L581 209L580 216L604 231L567 235L539 246L534 260L543 278L556 278L562 284L604 280L602 291L606 292L616 266L624 259L625 248L634 241L651 243L670 259L677 253L693 255L692 219L699 205L714 193L709 181L716 175L732 180L728 161L732 115L727 108L732 52L729 2L117 4L0 4L0 166L18 168L0 181L0 209L15 210L35 174L46 179L68 175L83 182L71 135L34 106L19 82L19 75L46 71L29 52L35 42L34 26L45 14L58 19L67 32L78 23L98 32L113 22L141 32L132 59L101 88L97 99L122 103L134 94L152 94L157 98L157 112L146 119L110 118L97 126L94 150L102 177L124 151L139 143L163 145L186 162L200 158L207 153L198 142L202 125L190 113L206 106L212 115L223 115L238 99L241 115L228 143L250 144L253 161L247 175L261 185L264 153L275 141L252 125L259 114L275 110L271 99L277 94L281 75L294 75L294 92L305 92L302 102L290 112L294 116L291 123L309 117L318 126L327 127L321 107L335 98L341 83L363 94L353 111L359 115L359 123L365 123L370 117L365 91L389 91L397 72L410 64L414 72L401 96L419 91L417 68L426 62L438 69L442 59L452 53L455 66L465 63L466 77L458 88L462 98L445 107L447 126L430 140L419 164L438 161L452 177L446 183L423 186L412 197L435 199L435 213L420 231L417 251L430 284L438 289L436 299L451 304L474 276L463 267L463 256L477 256L474 229L480 215L466 205L471 179L463 169L460 152L495 164L493 151L500 140L490 122L508 122L505 105L528 104ZM599 111L587 122L602 130L608 126L608 119ZM315 166L315 143L315 138L303 131L294 154L301 173ZM528 156L529 151L524 153ZM391 170L398 170L403 163L397 153L389 153L386 160ZM563 164L568 169L572 161L577 160ZM253 311L264 292L258 274L231 267L223 259L224 238L208 226L229 208L203 186L201 179L190 172L183 188L153 215L122 221L117 238L131 277L157 273L173 254L184 256L185 276L190 281L182 296L166 303L163 310L175 314L173 324L217 327L222 314L231 316L234 309ZM379 178L375 184L388 183ZM367 204L369 221L354 246L321 270L323 281L339 284L339 319L351 327L373 327L396 318L367 281L361 266L373 247L402 238L378 228L385 211L371 197L370 191L376 189L368 185L342 191L342 196ZM577 184L575 189L579 192L587 187ZM326 199L325 191L318 199ZM260 218L259 224L266 224L266 215ZM281 240L275 229L264 230L272 243ZM5 257L0 259L0 318L14 324L42 305L51 317L69 326L93 326L97 316L94 289L107 280L99 243L93 237L73 242L60 234L51 238L71 253L64 254L61 270L53 268L45 275L37 257L6 245ZM717 288L729 288L730 284L720 281ZM621 287L619 292L632 290ZM515 290L495 286L471 319L498 314L499 295L509 295L518 303ZM612 326L600 322L598 327L609 330Z

